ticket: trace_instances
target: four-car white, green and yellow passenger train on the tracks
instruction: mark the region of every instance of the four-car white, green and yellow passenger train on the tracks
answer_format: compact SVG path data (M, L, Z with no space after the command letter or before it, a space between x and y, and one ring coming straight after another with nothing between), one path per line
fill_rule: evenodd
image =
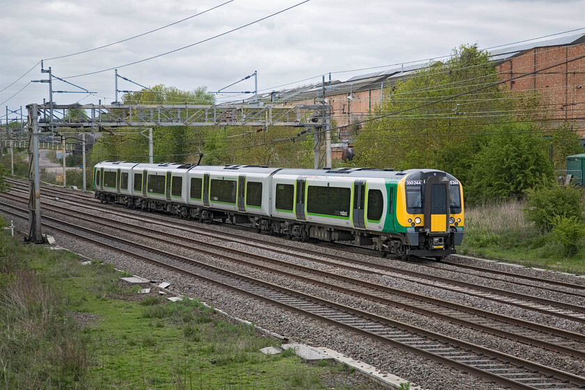
M127 208L245 224L258 233L350 242L382 255L442 259L464 235L462 185L435 169L95 165L95 198Z

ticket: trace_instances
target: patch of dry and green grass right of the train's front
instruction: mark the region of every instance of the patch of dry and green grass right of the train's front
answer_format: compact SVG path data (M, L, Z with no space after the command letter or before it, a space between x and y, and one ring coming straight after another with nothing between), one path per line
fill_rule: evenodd
M566 255L550 233L541 233L524 218L521 201L479 205L465 210L465 238L459 253L549 270L585 274L585 242Z

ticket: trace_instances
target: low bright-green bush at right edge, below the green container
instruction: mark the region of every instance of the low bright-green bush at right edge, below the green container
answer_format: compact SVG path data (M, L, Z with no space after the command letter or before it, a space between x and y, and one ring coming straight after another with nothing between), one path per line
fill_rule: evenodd
M530 189L528 208L524 210L524 214L541 231L549 232L554 227L556 217L583 221L585 207L582 196L582 189L556 183Z

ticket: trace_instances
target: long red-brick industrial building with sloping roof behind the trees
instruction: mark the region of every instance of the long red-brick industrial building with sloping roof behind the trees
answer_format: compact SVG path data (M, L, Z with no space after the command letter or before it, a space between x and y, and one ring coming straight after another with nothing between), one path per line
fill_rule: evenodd
M490 58L506 87L512 92L542 96L553 124L570 120L579 126L585 147L585 34L552 40L531 42L515 47L492 50ZM260 101L285 104L318 104L332 107L332 119L337 129L332 138L334 158L341 157L341 148L351 142L359 131L359 123L370 110L384 101L384 88L412 75L422 65L401 66L352 77L347 81L326 81L288 90L260 95Z

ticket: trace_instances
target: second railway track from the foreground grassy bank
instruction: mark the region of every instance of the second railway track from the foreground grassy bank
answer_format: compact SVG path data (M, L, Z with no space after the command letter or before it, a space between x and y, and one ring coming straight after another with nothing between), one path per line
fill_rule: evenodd
M6 206L6 204L2 203L0 203L0 205ZM58 205L46 205L45 210L63 213L69 211L68 208L63 208ZM517 320L514 318L506 318L480 309L471 309L460 304L445 302L442 299L426 297L387 286L380 286L367 281L350 278L348 276L334 274L332 272L315 270L314 268L291 264L285 260L257 256L249 251L231 249L225 245L201 242L201 240L195 240L189 237L164 233L152 228L136 226L136 224L130 224L123 221L108 221L107 223L102 223L95 219L94 214L88 212L77 213L77 219L83 219L91 224L100 224L103 228L114 228L114 226L116 226L116 231L120 233L137 234L145 239L153 239L158 236L161 237L162 240L165 240L176 247L200 251L205 255L210 256L214 256L218 253L231 253L234 256L253 258L254 260L267 264L262 266L262 269L266 272L281 273L288 278L302 279L308 283L332 290L338 290L348 295L362 297L373 302L398 307L414 313L430 315L470 329L483 331L494 336L505 337L509 340L520 341L527 345L536 345L547 350L561 352L579 359L585 359L585 337L570 331L555 329L553 327L538 325L533 322ZM86 217L81 217L79 214L85 214ZM138 231L143 231L145 233L139 233ZM200 247L206 247L212 250L201 250L199 249ZM259 267L257 263L250 263L247 260L240 260L240 258L232 257L230 260L251 267ZM274 268L275 265L288 269L293 268L295 271L280 272ZM333 266L333 264L331 265ZM354 270L357 272L361 271L358 268L355 268ZM315 276L317 276L318 279L315 279Z

